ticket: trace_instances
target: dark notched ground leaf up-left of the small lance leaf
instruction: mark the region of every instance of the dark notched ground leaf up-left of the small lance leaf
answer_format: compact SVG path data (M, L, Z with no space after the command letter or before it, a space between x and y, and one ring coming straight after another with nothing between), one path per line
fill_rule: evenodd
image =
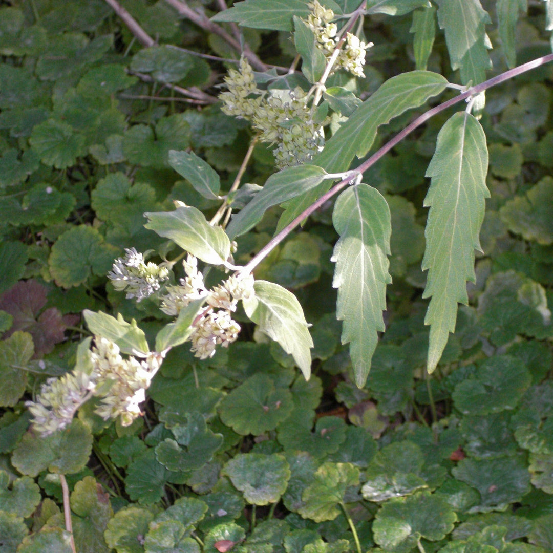
M123 153L131 163L164 169L169 166L169 150L182 150L190 144L190 126L182 113L162 117L155 133L147 125L134 125L123 134Z

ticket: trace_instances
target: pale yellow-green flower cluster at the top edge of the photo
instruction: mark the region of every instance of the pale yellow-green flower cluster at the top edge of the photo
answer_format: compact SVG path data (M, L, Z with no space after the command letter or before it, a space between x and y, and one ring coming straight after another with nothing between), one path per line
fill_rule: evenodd
M336 23L332 23L334 12L321 6L318 0L310 2L307 6L311 9L311 13L307 16L306 23L317 39L317 48L328 60L340 40L338 27ZM365 54L372 45L372 43L362 42L352 33L346 33L346 43L338 53L333 70L345 69L356 77L364 77Z

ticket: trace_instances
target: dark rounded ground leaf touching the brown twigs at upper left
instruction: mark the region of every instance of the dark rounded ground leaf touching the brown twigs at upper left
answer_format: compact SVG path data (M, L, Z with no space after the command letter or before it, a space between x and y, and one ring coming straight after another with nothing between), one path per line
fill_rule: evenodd
M131 70L149 73L159 82L178 82L194 67L194 57L173 46L161 44L134 54Z

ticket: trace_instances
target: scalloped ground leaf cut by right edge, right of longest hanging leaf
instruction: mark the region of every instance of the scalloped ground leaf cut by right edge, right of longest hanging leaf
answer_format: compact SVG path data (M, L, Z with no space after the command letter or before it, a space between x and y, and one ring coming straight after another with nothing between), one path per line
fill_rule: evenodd
M546 176L525 196L515 196L500 208L499 214L509 230L538 244L553 244L553 178Z

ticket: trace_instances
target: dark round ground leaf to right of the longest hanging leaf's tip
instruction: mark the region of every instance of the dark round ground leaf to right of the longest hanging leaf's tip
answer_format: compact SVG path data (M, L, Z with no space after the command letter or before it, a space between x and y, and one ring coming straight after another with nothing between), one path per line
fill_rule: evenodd
M486 359L474 378L456 385L455 407L466 415L489 415L514 409L532 382L524 363L508 355Z

